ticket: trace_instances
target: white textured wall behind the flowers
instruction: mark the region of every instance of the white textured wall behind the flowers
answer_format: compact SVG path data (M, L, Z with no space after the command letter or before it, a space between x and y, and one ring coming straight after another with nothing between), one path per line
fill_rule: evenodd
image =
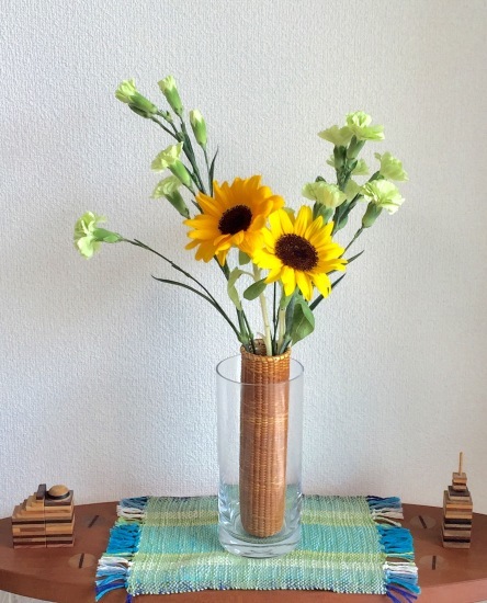
M215 491L214 365L237 343L212 308L157 284L128 246L72 248L86 209L204 275L149 200L167 144L114 99L173 73L205 114L216 175L260 172L299 204L363 109L409 171L407 202L317 312L306 366L308 492L439 505L466 469L487 512L485 1L27 0L0 21L0 515L37 483L78 502ZM344 241L344 239L342 238ZM257 314L256 314L257 319Z

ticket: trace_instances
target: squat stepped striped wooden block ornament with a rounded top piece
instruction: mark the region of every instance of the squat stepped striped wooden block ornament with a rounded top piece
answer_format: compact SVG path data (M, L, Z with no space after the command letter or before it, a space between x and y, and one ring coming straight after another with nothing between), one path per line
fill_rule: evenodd
M75 502L72 490L53 486L18 504L12 515L14 548L72 546L75 542Z

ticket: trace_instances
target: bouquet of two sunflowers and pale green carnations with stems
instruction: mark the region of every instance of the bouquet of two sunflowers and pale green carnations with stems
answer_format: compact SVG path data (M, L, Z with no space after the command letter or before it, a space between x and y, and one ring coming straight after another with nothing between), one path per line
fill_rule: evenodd
M260 175L235 178L231 183L214 180L217 151L208 157L202 114L197 110L189 113L191 137L174 78L161 80L159 88L168 110L158 109L141 95L134 80L123 81L115 95L172 138L173 144L151 163L156 172L170 172L157 184L152 197L166 198L184 218L190 239L186 249L195 250L196 260L216 262L235 305L236 319L228 316L203 283L169 258L137 239L101 228L99 225L105 221L102 216L88 212L78 219L76 248L84 258L91 258L101 243L115 242L156 253L186 281L156 280L185 287L209 303L250 353L256 353L257 343L245 305L259 299L265 354L283 354L313 332L315 309L344 276L336 273L343 273L361 254L346 258L351 244L383 211L394 214L403 204L393 182L407 180L403 164L389 152L375 153L380 166L360 184L356 177L369 175L369 168L359 155L366 141L384 139L384 128L372 125L371 116L361 111L350 113L342 126L333 125L318 134L333 147L327 163L335 171L336 182L318 175L314 182L305 183L302 195L309 203L294 211L262 184ZM360 228L342 247L335 237L355 208L363 209Z

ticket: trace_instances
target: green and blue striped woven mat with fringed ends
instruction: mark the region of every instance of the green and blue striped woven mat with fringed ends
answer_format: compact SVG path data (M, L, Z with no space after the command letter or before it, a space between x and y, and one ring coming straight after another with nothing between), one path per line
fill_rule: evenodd
M397 498L305 497L302 541L279 558L225 551L216 497L124 499L99 561L97 601L125 588L138 594L205 589L302 589L386 594L394 603L419 593L410 532Z

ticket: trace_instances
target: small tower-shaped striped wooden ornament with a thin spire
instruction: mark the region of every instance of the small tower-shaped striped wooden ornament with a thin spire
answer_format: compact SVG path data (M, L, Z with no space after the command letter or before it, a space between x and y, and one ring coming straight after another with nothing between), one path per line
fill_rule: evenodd
M441 534L445 548L469 548L474 505L463 471L463 453L460 453L458 471L453 473L452 485L443 494L443 525Z

